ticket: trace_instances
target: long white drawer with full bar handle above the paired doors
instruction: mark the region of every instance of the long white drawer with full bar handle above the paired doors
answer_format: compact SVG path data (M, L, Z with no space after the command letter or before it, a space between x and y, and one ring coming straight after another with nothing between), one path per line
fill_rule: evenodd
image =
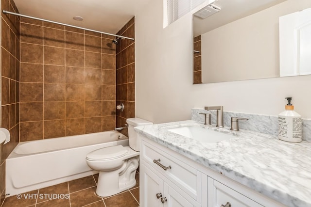
M140 148L140 160L149 163L176 186L187 192L192 198L197 199L197 191L201 189L199 186L201 185L199 180L201 176L198 175L196 169L144 141ZM157 162L165 167L171 166L171 168L164 170L154 160L158 160Z

